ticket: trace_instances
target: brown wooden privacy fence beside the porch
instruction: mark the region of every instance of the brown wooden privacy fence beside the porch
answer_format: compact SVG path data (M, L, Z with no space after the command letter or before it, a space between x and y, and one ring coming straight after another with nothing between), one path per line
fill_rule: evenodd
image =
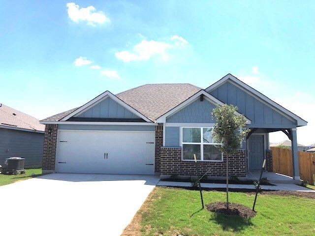
M273 172L293 176L292 151L286 148L271 147ZM315 153L298 151L301 179L315 185Z

